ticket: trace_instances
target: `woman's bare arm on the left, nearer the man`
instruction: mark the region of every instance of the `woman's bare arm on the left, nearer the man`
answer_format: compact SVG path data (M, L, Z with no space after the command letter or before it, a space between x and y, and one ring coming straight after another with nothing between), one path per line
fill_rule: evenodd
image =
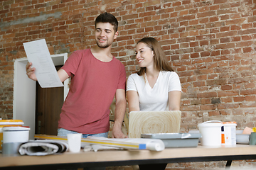
M137 91L127 91L129 112L139 111L139 96Z

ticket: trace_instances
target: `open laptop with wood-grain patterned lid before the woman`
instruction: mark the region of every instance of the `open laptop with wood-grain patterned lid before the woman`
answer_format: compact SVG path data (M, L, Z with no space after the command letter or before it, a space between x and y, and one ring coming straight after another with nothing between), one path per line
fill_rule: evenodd
M181 111L132 111L129 113L129 138L145 133L178 133Z

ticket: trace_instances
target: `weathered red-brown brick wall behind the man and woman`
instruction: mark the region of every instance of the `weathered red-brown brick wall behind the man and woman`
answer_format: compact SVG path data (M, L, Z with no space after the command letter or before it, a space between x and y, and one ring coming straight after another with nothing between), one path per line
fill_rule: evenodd
M138 69L137 40L161 42L181 79L181 132L206 120L256 126L255 0L0 1L0 113L12 118L14 60L26 57L23 42L45 38L52 55L91 47L95 17L104 11L119 21L112 54L127 76Z

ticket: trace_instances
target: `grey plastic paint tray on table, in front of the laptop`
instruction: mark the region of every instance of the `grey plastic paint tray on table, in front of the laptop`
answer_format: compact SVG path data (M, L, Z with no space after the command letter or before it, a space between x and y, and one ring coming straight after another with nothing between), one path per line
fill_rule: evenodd
M159 139L168 147L197 147L200 133L146 133L142 138Z

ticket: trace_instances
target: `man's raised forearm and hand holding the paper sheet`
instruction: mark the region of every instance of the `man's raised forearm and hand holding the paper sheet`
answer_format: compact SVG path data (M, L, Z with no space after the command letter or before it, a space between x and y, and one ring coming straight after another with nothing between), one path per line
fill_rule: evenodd
M36 74L35 74L36 69L32 68L31 66L32 66L31 62L28 62L28 64L26 64L26 74L28 75L29 79L37 81ZM64 69L59 69L57 73L58 73L58 77L60 78L61 82L65 81L69 77L68 73L65 72Z

